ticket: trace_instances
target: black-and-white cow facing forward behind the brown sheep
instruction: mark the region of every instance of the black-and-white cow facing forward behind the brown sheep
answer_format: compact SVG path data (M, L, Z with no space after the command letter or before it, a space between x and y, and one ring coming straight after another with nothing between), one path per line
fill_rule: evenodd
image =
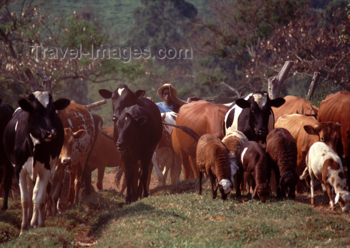
M270 99L266 91L257 91L238 98L225 114L223 132L226 134L238 130L249 140L264 144L268 132L274 127L271 106L279 107L284 102L281 97Z

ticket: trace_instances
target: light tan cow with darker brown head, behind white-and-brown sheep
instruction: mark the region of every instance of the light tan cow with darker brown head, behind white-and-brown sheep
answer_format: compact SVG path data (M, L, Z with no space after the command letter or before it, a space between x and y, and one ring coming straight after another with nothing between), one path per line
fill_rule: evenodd
M297 166L295 172L298 176L306 167L306 154L314 142L322 141L335 150L336 141L340 136L340 124L332 121L318 122L312 116L297 113L280 116L274 127L287 129L296 141ZM301 191L300 182L296 185L296 191Z

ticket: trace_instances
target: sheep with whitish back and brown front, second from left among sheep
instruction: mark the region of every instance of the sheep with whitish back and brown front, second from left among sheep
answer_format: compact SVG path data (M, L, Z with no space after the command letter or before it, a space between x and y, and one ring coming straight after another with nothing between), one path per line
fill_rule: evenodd
M231 162L231 166L233 164L238 166L238 171L234 173L236 197L241 196L240 185L243 182L243 167L240 162L240 152L242 150L243 145L246 142L248 142L248 138L241 131L237 130L230 131L222 139L222 143L226 146L227 150L229 151L229 159Z

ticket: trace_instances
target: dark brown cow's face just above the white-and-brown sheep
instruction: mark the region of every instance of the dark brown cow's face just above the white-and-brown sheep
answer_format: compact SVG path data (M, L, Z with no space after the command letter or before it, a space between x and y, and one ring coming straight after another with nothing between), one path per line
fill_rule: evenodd
M322 121L316 126L304 125L308 134L317 135L319 141L324 142L336 152L336 143L340 139L340 126L338 122Z

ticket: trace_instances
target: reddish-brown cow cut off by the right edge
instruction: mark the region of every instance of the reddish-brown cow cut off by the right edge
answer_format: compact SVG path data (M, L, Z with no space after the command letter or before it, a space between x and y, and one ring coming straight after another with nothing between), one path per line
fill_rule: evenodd
M341 143L347 174L350 175L350 91L329 94L319 104L318 121L336 121L341 124ZM338 151L338 154L341 152Z

